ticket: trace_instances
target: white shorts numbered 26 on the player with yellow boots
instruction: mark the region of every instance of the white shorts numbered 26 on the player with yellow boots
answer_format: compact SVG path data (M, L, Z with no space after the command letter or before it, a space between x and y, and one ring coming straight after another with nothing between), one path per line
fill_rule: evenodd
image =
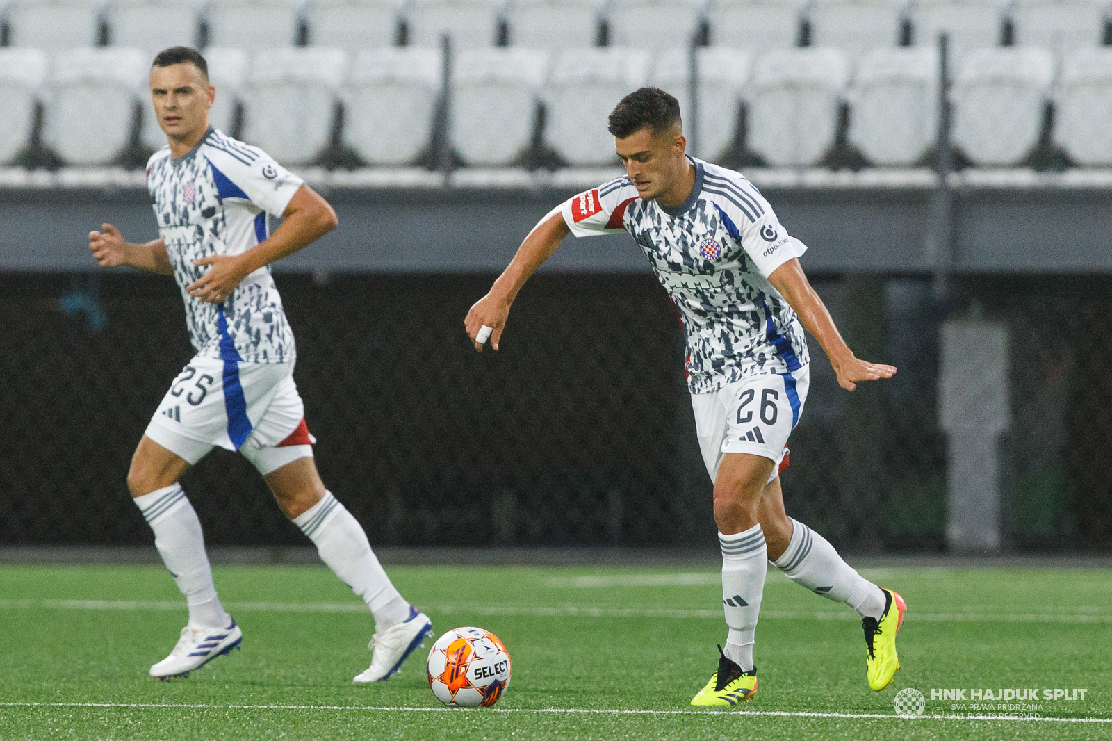
M695 432L711 480L724 453L771 460L768 481L787 467L787 437L800 422L811 385L810 366L792 373L742 378L709 394L692 394Z

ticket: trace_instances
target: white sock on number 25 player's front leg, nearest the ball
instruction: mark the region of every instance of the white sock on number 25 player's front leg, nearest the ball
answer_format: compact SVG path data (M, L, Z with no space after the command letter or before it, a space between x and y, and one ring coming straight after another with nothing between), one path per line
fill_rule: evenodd
M294 524L314 542L320 560L367 603L377 631L409 618L409 603L383 571L367 533L331 492L295 517Z

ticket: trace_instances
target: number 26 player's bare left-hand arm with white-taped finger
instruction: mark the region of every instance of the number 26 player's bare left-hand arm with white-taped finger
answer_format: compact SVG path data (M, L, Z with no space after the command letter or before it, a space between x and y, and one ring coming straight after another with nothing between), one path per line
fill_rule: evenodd
M517 298L517 292L522 289L529 276L553 256L564 237L572 233L564 221L562 209L563 205L557 206L548 211L548 215L540 219L537 226L533 227L533 230L522 241L522 246L517 248L514 259L494 281L487 295L477 300L467 313L464 328L478 352L483 352L483 343L478 342L476 337L484 326L494 330L490 334L490 345L498 349L498 339L502 337L502 330L509 317L509 307Z

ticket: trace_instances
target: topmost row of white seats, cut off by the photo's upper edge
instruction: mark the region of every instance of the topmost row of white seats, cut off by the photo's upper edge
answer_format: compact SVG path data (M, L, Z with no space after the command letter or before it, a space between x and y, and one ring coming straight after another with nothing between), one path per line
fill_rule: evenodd
M0 3L2 4L2 3ZM503 42L542 49L594 46L605 19L609 43L685 46L705 22L713 43L745 49L794 46L806 19L810 43L861 52L915 43L946 31L957 49L995 46L1005 21L1013 40L1054 51L1095 46L1108 0L10 0L9 42L49 50L112 45L157 51L198 42L265 49L307 41L348 50L390 46L404 21L408 43L457 47Z

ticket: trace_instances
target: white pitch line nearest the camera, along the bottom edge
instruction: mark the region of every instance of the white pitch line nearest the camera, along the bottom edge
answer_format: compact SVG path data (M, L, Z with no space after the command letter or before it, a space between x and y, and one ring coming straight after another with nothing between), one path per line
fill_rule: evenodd
M1044 723L1112 723L1112 718L1012 718L1006 715L921 715L905 719L895 713L813 713L788 710L620 710L604 708L398 708L376 705L281 705L281 704L206 704L193 702L0 702L2 708L121 708L121 709L185 709L185 710L328 710L363 712L487 712L487 713L578 713L588 715L757 715L773 718L872 718L876 720L975 720L975 721L1031 721Z

